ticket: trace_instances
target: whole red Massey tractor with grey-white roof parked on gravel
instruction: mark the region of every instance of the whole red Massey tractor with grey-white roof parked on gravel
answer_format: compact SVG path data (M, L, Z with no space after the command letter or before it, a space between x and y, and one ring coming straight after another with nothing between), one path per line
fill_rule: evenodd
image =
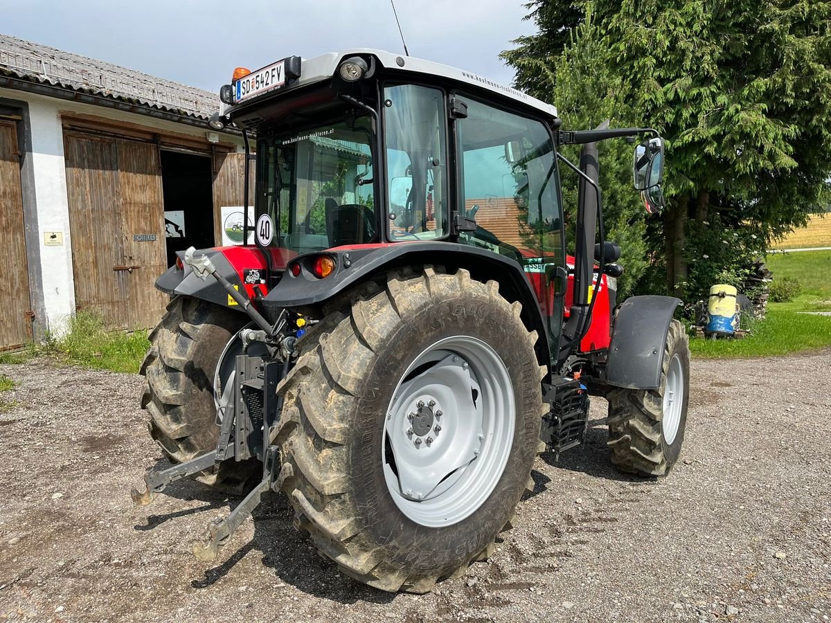
M635 187L660 209L655 130L562 130L512 88L362 49L238 69L220 99L212 125L256 135L256 246L190 248L156 283L172 300L142 406L174 465L133 492L187 475L248 492L197 557L283 491L349 576L429 591L489 556L534 457L583 440L590 395L619 468L676 463L679 301L617 305L597 187L597 140L642 135ZM561 166L581 180L573 257Z

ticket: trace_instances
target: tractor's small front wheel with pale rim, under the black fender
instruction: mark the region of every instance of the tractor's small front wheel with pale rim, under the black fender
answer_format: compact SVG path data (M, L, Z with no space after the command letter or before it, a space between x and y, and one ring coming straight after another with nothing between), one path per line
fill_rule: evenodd
M666 335L661 385L656 390L612 390L609 447L623 472L663 476L681 454L690 399L690 346L681 322Z

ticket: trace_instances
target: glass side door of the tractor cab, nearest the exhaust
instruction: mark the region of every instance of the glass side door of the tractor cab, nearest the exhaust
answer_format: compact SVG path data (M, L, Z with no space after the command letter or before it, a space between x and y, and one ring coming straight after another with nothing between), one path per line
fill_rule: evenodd
M460 242L514 258L524 268L556 359L567 273L551 133L540 120L457 97L467 105L467 116L455 120L459 209L476 222Z

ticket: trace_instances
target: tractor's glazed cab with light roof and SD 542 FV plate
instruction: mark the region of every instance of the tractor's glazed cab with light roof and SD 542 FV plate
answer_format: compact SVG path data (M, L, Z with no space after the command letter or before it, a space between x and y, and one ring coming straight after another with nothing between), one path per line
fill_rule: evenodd
M273 232L255 228L258 244L286 259L425 242L498 254L527 273L556 349L566 258L553 106L378 51L236 76L216 121L256 133L252 203Z

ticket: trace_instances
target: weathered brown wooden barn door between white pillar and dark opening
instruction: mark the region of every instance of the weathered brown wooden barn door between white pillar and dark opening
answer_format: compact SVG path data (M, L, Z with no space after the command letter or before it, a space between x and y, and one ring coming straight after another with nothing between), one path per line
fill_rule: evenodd
M114 327L150 327L166 297L164 207L156 146L66 132L66 192L79 310Z

